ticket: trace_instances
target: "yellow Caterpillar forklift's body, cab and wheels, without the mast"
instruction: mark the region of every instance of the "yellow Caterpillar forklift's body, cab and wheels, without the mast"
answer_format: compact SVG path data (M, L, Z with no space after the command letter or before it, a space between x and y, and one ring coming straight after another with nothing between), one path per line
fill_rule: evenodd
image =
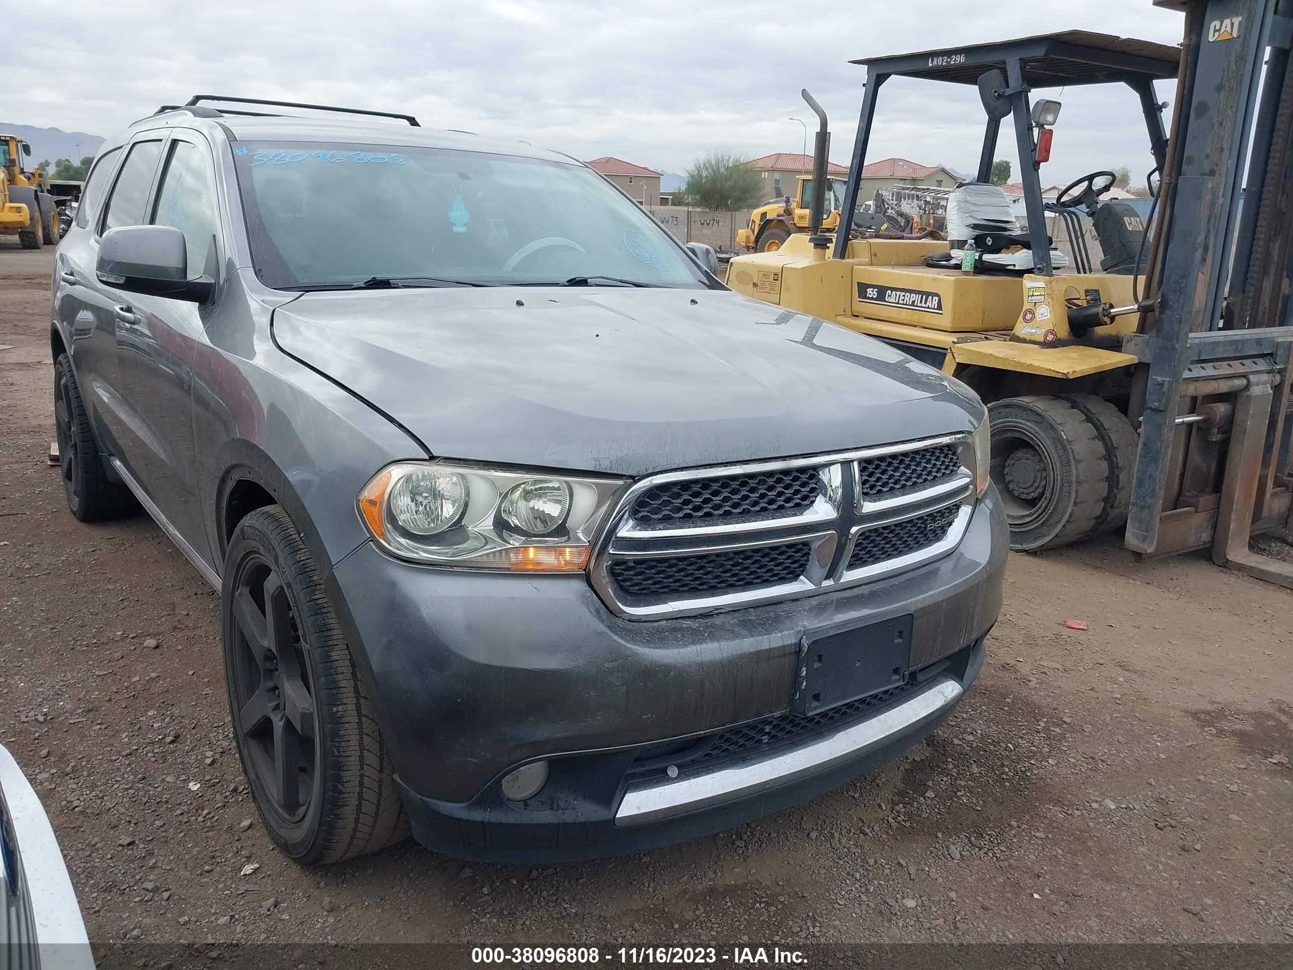
M1127 85L1161 172L1168 135L1155 81L1177 78L1179 59L1177 48L1162 44L1068 31L855 61L866 65L868 83L839 200L844 212L856 208L877 97L890 78L978 88L987 113L979 169L948 195L946 239L892 238L857 222L829 234L815 210L809 234L731 263L734 290L877 336L979 393L989 405L992 477L1014 548L1064 546L1127 519L1138 438L1126 414L1138 358L1124 344L1146 309L1138 296L1148 256L1142 216L1102 198L1113 188L1112 172L1093 172L1054 202L1042 199L1038 169L1060 103L1033 101L1031 92ZM989 181L1007 118L1021 159L1024 213ZM824 175L824 158L816 160ZM1051 238L1080 215L1094 222L1098 265L1080 229L1069 233L1069 253Z

